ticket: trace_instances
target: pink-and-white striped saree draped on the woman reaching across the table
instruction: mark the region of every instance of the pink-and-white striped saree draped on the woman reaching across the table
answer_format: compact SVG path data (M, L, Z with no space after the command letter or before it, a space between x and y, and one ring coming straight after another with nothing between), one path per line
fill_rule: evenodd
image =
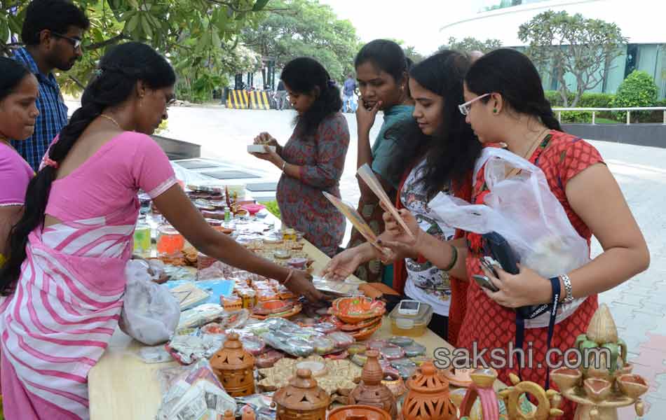
M88 370L118 324L133 229L96 218L30 235L0 318L8 419L88 418Z

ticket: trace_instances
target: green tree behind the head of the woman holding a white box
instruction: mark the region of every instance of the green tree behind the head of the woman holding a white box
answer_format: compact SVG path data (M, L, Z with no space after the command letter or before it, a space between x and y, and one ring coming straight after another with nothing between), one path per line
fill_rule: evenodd
M332 8L317 0L273 0L264 20L243 29L242 43L283 67L296 57L317 59L335 80L353 72L359 48L356 29L339 20Z

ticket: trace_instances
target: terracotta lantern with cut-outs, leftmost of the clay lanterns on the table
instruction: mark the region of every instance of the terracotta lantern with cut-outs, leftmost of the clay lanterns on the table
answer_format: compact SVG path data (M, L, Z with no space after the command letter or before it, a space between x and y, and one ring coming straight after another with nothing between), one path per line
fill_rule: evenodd
M254 393L254 356L243 349L236 332L231 332L210 359L213 372L232 397L243 397Z

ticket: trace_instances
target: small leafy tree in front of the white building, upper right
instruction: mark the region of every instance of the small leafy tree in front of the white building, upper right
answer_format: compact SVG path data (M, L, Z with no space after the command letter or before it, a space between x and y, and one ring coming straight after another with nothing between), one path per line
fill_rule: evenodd
M627 43L614 23L552 10L520 25L518 37L528 44L526 54L534 64L558 81L564 106L576 106L583 92L602 83L609 64L622 55L622 46ZM575 89L566 83L566 74L576 79Z

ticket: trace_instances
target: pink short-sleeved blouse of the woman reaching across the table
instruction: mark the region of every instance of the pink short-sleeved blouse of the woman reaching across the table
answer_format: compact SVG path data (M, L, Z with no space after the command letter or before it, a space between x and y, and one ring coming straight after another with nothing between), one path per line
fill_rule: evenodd
M113 225L133 224L138 190L155 198L175 183L169 159L153 139L123 132L74 172L53 181L46 214L63 222L107 216Z

